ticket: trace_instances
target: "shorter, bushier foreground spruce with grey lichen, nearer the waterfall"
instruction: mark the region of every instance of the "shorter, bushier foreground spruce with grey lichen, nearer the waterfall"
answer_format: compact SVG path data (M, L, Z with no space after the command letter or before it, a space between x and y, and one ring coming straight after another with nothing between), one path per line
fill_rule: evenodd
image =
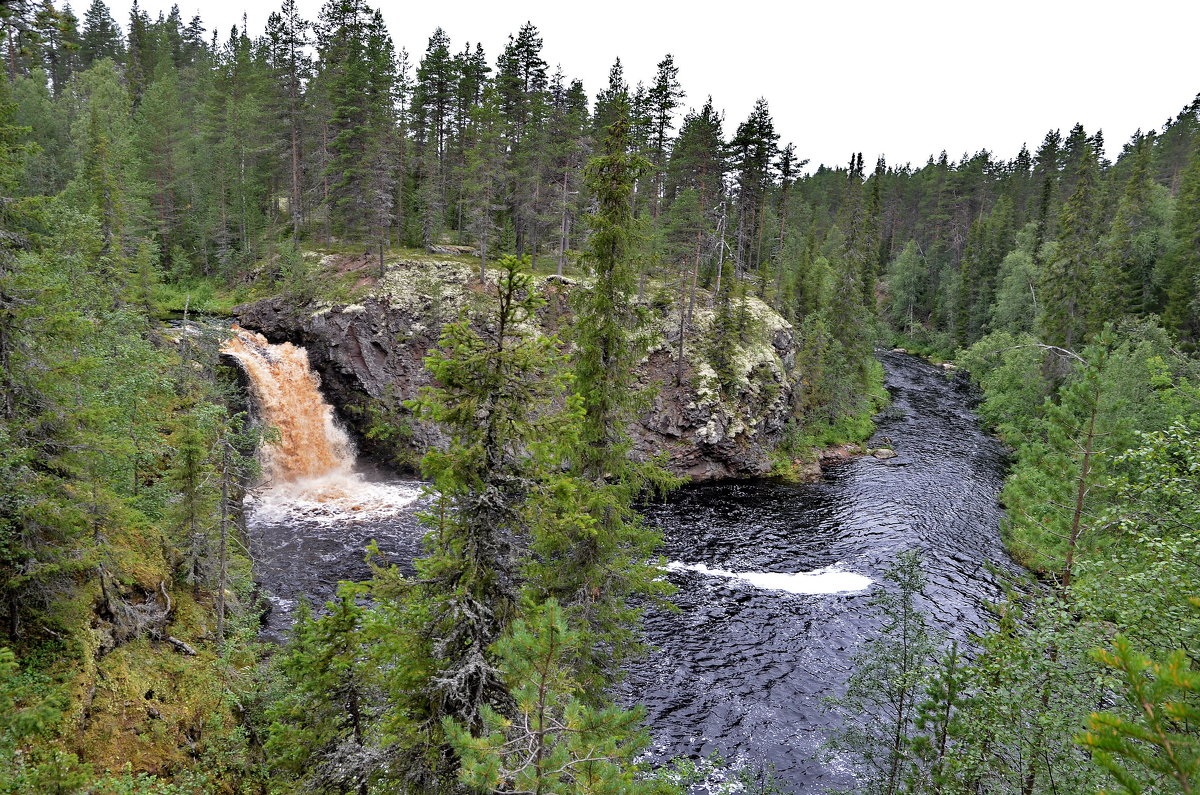
M428 555L418 561L437 669L426 698L432 718L472 733L482 729L485 705L511 707L490 648L518 609L518 543L533 486L526 448L554 436L550 405L562 394L559 343L535 330L545 301L527 264L509 256L499 268L494 309L479 323L445 327L426 358L434 384L413 404L449 436L421 461L437 490L424 516Z

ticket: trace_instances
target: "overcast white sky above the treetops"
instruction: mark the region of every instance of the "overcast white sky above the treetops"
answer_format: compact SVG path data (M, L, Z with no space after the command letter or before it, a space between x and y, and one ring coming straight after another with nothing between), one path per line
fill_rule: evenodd
M169 0L142 0L151 16ZM316 18L320 0L300 0ZM86 0L77 0L77 13ZM130 0L109 0L121 25ZM942 149L956 159L990 149L1009 157L1046 130L1081 121L1104 130L1109 154L1139 127L1159 127L1200 92L1196 0L972 0L881 2L524 2L382 1L397 48L415 67L440 25L454 48L481 41L494 64L508 35L527 19L541 31L544 58L595 95L620 56L631 84L650 82L672 53L685 103L709 94L732 132L754 101L770 102L781 143L812 165L841 165L862 151L868 165L923 163ZM274 0L180 0L211 31L248 17L263 30ZM811 168L811 166L810 166Z

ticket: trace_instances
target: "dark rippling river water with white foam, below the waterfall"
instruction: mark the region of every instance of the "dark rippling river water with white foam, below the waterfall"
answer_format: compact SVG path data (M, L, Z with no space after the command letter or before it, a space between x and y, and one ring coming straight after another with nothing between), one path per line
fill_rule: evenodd
M889 441L896 458L830 467L812 485L689 486L644 509L665 534L679 610L648 616L655 651L622 695L647 706L655 755L770 763L796 793L850 783L845 765L821 761L822 699L841 691L878 626L868 600L902 550L924 557L935 627L959 639L986 629L984 605L1001 590L988 564L1013 566L998 537L1003 449L979 429L965 387L913 357L881 359L892 404L875 444ZM420 552L420 485L365 490L349 508L259 500L251 531L275 605L268 634L281 635L298 598L366 576L370 539L397 562Z

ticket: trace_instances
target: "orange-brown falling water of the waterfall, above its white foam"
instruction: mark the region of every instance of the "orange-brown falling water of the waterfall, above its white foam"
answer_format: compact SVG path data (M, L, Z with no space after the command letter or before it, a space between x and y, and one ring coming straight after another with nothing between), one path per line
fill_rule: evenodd
M290 342L271 345L262 334L236 325L233 331L223 352L246 372L259 419L280 434L259 449L266 483L324 480L334 485L353 478L354 444L320 394L308 352Z

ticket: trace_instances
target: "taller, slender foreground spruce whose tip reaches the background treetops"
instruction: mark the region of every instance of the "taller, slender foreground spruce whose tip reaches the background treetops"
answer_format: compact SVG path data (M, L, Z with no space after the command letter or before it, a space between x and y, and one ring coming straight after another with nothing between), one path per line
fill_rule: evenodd
M659 536L642 525L631 506L646 488L671 478L655 465L630 460L626 431L640 405L635 369L647 345L646 321L634 303L630 209L634 181L644 167L630 153L629 122L622 116L608 127L601 154L586 171L596 209L588 219L595 280L576 303L575 394L582 419L574 468L582 486L574 492L576 507L565 510L568 520L535 549L557 561L542 573L545 596L558 598L592 641L580 659L594 693L638 645L637 611L629 598L661 593L664 587L649 561Z

